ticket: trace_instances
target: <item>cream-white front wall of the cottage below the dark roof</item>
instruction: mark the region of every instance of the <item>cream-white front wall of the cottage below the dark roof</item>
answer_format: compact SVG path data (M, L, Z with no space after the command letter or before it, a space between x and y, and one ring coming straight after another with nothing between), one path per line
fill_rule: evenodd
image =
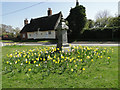
M28 39L55 39L55 31L27 32L27 36Z

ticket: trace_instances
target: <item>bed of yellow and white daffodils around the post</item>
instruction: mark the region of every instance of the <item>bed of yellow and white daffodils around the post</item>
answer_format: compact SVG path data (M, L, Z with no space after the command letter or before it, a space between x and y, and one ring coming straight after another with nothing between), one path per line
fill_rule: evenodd
M51 73L82 74L98 60L105 60L109 64L112 58L110 52L113 52L113 49L87 46L71 46L71 52L67 53L55 47L16 50L6 55L7 58L3 61L6 65L3 73L41 73L42 76ZM18 66L20 68L17 68Z

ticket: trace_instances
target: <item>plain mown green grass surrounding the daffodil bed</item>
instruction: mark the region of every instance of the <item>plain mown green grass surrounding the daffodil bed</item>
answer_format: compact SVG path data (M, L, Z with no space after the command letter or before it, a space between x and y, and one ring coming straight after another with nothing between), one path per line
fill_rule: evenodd
M2 60L6 59L6 54L14 50L32 49L42 46L5 46L2 47ZM89 68L78 75L76 73L54 74L51 73L44 79L41 73L29 76L24 72L7 73L2 75L2 88L118 88L118 47L99 47L112 48L110 64L105 60L94 62ZM3 63L3 68L5 64ZM18 67L21 68L21 67ZM31 78L29 78L31 77Z

